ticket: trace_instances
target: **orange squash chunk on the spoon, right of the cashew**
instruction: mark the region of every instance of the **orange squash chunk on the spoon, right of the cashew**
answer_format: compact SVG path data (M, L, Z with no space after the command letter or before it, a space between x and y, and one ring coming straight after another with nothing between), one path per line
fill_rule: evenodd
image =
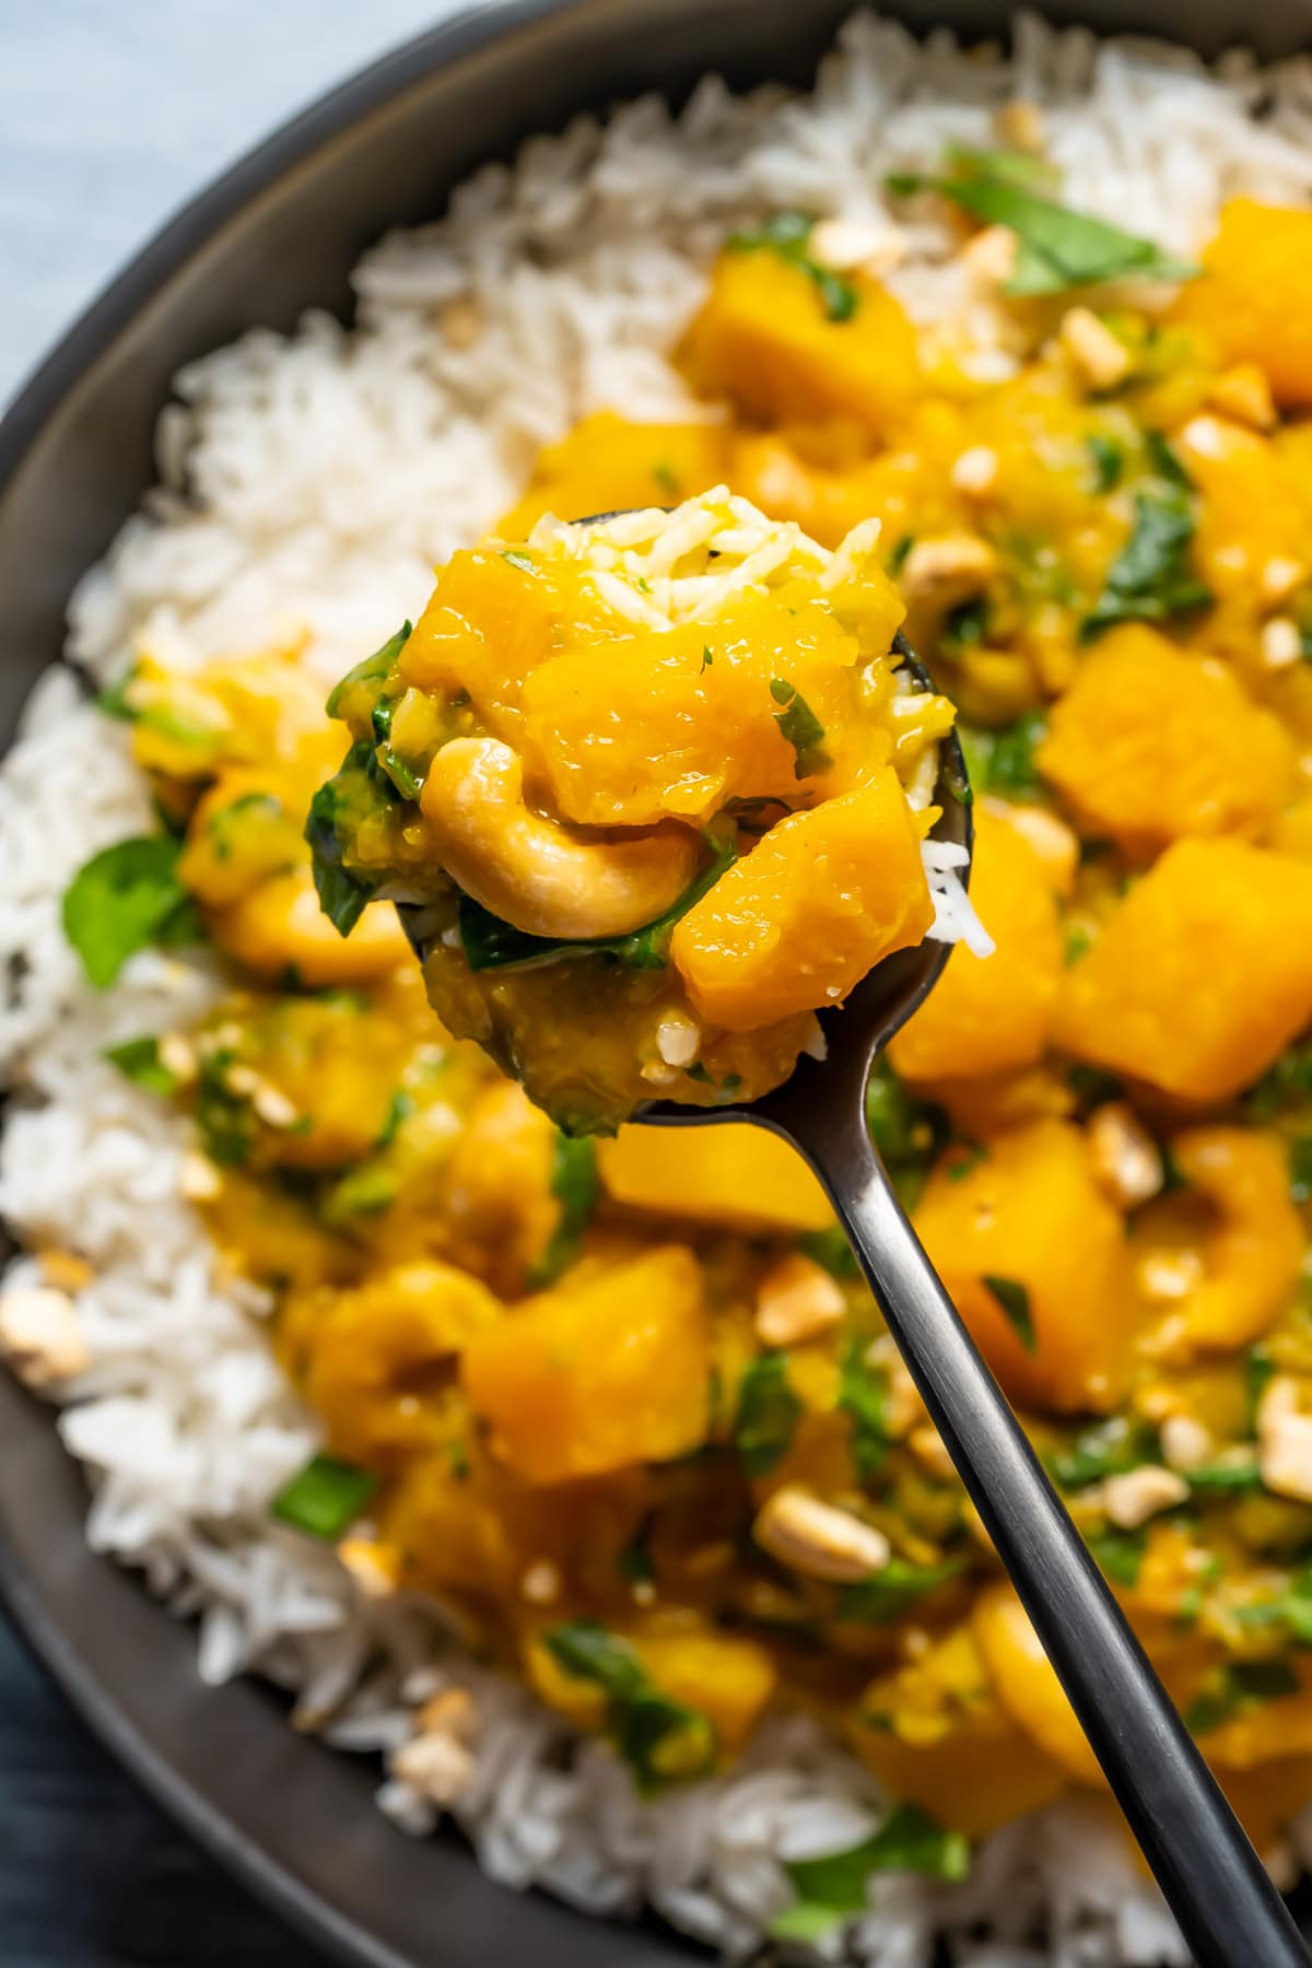
M771 827L675 925L671 956L708 1023L751 1031L838 1004L932 919L913 817L881 768Z

